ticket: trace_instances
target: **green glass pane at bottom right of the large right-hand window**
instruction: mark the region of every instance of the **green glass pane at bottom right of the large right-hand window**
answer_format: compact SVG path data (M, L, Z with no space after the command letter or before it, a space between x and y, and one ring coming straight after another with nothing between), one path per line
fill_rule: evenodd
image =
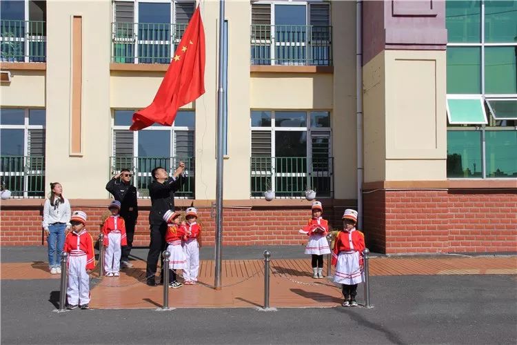
M517 131L487 130L487 177L517 177Z

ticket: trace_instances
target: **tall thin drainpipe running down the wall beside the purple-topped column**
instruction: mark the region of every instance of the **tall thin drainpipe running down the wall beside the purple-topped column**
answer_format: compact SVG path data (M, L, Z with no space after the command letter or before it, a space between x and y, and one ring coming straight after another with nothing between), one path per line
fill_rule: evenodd
M363 228L363 3L356 1L357 227Z

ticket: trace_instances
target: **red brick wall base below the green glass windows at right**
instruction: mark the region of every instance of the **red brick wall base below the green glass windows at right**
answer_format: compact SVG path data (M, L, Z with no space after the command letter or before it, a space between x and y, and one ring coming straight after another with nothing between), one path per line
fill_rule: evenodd
M363 201L374 251L517 251L516 190L376 190Z

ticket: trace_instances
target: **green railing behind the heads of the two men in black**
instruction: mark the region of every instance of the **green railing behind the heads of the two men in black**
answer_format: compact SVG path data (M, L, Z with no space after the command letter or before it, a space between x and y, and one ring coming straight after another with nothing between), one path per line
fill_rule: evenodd
M172 176L180 161L185 162L186 181L175 195L183 199L194 199L194 157L110 157L110 174L114 175L123 168L131 170L132 183L138 190L139 197L147 199L149 186L152 183L152 169L161 166L168 171L169 176Z

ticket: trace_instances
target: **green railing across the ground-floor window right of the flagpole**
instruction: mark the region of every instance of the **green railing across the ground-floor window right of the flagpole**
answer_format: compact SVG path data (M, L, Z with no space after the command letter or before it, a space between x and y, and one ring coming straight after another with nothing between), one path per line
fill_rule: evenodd
M277 198L305 197L308 188L332 197L333 171L333 157L252 157L251 197L263 197L266 190Z

